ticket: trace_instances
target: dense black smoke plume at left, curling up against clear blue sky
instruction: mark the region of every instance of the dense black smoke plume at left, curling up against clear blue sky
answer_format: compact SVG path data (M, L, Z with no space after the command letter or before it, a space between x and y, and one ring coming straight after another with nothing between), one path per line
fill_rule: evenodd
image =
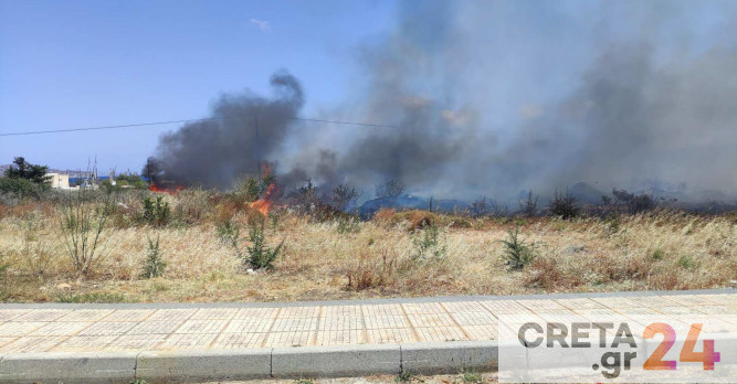
M272 98L254 94L225 95L212 119L188 124L159 139L148 172L160 183L228 188L243 174L254 174L269 153L285 140L305 98L292 75L272 76Z

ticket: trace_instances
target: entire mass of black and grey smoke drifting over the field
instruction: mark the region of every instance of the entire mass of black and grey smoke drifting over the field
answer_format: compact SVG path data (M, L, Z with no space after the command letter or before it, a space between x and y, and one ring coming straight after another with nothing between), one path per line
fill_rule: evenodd
M219 188L261 158L288 183L367 191L396 179L503 196L586 181L734 195L735 25L730 1L406 2L358 50L360 86L319 116L401 128L294 120L304 93L278 73L271 98L222 97L218 119L164 136L150 163Z

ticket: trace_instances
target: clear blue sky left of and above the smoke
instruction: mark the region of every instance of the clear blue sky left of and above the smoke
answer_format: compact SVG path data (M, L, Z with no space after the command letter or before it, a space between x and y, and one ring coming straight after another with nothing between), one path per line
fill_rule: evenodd
M269 92L278 68L307 90L304 114L350 87L354 51L391 28L379 1L0 0L0 132L207 116L221 93ZM56 168L139 170L177 126L10 137Z

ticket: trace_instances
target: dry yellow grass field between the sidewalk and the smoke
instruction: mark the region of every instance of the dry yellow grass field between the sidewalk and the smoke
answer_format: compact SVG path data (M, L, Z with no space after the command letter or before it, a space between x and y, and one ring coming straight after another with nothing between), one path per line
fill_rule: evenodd
M222 221L241 223L240 243L249 245L246 222L259 213L248 204L209 192L165 195L171 218L155 225L137 218L147 193L118 196L102 233L101 258L84 275L67 252L61 203L0 205L2 298L293 301L737 285L734 214L659 212L562 221L381 211L368 222L319 222L283 209L265 221L266 244L284 241L275 269L253 271L217 231ZM515 227L534 258L510 270L502 241ZM148 238L157 236L166 268L161 277L144 278Z

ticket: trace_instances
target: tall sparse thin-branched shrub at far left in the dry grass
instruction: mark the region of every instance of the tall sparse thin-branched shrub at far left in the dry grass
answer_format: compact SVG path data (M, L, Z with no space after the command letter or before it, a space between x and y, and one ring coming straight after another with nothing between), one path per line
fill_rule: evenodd
M70 192L60 215L66 250L80 275L86 275L103 256L112 237L103 242L103 234L113 231L106 225L114 206L112 196L96 203L87 193L86 189Z

